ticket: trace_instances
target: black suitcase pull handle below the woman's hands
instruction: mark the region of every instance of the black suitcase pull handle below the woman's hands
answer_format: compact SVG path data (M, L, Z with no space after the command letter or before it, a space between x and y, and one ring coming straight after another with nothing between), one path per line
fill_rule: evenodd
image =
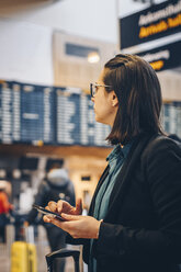
M53 262L56 258L66 258L66 257L72 257L75 260L75 271L79 272L79 250L72 250L72 249L59 249L57 251L50 252L45 256L46 263L47 263L47 272L53 272Z

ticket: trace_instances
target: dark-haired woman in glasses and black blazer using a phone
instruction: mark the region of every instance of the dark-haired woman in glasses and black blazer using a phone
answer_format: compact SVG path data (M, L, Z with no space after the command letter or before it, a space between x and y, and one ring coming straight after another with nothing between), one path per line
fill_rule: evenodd
M82 242L91 272L176 272L181 262L181 149L159 123L161 90L148 63L117 55L91 84L97 122L112 127L89 216L49 202L66 222L45 216ZM77 239L82 238L82 239Z

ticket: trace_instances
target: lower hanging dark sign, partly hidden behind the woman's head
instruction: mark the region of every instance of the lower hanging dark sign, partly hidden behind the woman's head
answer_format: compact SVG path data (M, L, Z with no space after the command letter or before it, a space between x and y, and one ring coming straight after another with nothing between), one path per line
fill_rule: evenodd
M147 60L156 71L181 66L181 41L137 54Z

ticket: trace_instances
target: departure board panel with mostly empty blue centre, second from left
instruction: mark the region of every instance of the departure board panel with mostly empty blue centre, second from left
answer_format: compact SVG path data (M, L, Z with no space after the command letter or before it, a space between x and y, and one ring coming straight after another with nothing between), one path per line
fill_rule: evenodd
M21 84L21 139L54 144L54 89Z

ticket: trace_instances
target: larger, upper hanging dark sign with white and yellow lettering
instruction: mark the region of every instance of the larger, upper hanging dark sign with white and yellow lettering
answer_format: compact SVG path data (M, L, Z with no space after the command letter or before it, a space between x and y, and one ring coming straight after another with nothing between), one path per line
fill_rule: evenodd
M181 0L168 0L120 20L121 49L181 32Z

